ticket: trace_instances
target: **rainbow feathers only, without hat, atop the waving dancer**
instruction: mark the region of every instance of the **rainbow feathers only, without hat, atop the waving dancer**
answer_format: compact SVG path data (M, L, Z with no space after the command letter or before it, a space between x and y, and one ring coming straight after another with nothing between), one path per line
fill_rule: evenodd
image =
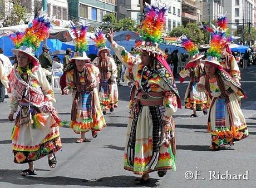
M159 43L162 38L162 31L165 24L166 12L168 6L161 1L155 1L150 6L145 3L145 20L142 23L143 41Z

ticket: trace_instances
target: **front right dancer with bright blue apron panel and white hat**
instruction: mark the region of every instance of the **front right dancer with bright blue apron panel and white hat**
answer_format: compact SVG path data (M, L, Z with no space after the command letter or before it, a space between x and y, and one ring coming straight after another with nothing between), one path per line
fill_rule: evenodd
M223 34L216 29L206 54L208 57L202 61L206 75L201 76L196 85L196 90L206 90L211 98L208 117L208 131L211 132L210 150L219 150L226 145L233 146L234 141L249 135L238 102L244 97L243 90L218 61L225 45L225 39L221 36Z

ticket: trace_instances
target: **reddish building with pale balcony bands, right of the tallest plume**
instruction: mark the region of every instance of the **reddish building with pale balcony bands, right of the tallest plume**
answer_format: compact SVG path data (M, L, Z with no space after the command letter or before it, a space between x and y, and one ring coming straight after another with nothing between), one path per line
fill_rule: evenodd
M181 22L185 26L188 23L199 23L202 19L203 0L182 0Z

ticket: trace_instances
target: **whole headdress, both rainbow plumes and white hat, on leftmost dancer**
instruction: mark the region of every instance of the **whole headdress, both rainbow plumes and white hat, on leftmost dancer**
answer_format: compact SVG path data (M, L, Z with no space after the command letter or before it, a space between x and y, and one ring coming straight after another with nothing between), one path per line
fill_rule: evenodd
M18 52L27 53L33 57L37 63L39 61L34 56L35 51L40 47L40 43L47 39L50 34L51 23L47 17L47 14L41 12L40 16L33 19L28 23L24 33L16 32L10 35L14 46L19 49L12 49L12 52L17 55Z

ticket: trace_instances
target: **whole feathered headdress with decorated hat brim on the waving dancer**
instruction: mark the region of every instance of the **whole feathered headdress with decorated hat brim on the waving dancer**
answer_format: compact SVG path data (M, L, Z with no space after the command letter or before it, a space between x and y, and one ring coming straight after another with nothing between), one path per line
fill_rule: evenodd
M146 12L145 19L141 27L143 42L141 45L136 44L136 49L165 56L165 53L159 49L158 44L162 41L168 6L161 1L154 1L151 2L151 6L145 3L144 11Z

